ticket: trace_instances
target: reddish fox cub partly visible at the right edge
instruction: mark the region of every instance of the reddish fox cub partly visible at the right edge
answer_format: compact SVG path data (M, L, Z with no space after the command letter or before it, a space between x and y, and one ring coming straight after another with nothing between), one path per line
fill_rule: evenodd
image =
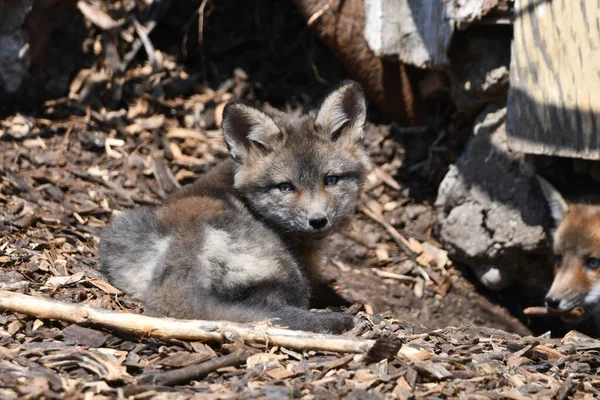
M600 203L568 204L554 186L538 180L556 222L556 274L546 306L578 322L600 312Z

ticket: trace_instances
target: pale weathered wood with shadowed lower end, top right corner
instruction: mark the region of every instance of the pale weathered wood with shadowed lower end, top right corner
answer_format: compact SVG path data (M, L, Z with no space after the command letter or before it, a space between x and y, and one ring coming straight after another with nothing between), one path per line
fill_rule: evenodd
M508 144L518 152L600 160L598 2L516 3Z

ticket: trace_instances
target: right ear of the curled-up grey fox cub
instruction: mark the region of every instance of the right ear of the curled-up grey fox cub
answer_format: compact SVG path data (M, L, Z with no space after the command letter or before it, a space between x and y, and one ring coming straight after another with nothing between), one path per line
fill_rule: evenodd
M331 92L317 112L315 129L332 140L350 139L352 144L365 137L367 104L360 85L347 81Z

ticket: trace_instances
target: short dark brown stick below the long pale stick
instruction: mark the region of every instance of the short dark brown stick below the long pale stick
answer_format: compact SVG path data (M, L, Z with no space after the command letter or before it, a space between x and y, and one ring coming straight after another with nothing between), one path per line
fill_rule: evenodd
M148 376L147 380L153 385L175 386L188 383L193 380L199 380L206 375L225 367L237 367L246 362L250 356L247 350L238 350L223 357L205 361L198 365L190 365L183 368L174 369L167 372Z

